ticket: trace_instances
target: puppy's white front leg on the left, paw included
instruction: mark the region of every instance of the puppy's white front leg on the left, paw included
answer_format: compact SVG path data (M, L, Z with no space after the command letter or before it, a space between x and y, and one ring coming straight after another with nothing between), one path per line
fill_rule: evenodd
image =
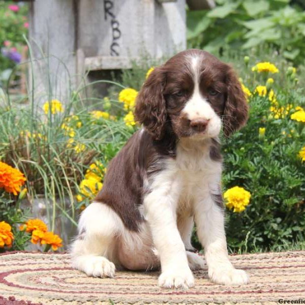
M170 193L163 186L161 189L155 188L144 198L145 217L161 262L159 286L193 287L193 273L176 223L177 199L169 195Z

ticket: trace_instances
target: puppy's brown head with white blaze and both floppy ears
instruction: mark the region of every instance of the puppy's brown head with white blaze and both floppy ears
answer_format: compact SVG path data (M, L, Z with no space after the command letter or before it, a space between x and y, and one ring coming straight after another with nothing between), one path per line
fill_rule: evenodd
M248 104L230 66L191 49L151 72L137 97L135 116L156 140L166 131L177 138L214 138L222 126L226 136L241 128Z

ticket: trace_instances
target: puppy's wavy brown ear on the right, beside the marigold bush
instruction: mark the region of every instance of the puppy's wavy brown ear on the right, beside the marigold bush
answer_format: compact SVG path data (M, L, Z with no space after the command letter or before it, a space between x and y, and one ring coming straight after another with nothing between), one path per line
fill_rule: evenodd
M230 136L246 124L248 119L248 102L241 88L241 84L233 69L228 66L227 70L227 99L225 102L223 125L224 134Z

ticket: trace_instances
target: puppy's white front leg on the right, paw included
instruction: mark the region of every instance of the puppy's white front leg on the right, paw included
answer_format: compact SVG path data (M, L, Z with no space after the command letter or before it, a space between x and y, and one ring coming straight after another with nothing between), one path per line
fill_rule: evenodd
M222 208L208 196L195 206L198 238L204 248L209 278L218 284L247 284L249 278L243 270L235 269L228 258L227 241Z

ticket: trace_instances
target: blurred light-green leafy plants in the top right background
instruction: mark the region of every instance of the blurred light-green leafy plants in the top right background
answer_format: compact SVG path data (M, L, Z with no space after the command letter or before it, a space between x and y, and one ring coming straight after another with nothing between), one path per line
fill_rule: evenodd
M210 11L188 11L191 47L219 53L249 50L262 44L295 64L305 58L305 12L288 0L218 0Z

